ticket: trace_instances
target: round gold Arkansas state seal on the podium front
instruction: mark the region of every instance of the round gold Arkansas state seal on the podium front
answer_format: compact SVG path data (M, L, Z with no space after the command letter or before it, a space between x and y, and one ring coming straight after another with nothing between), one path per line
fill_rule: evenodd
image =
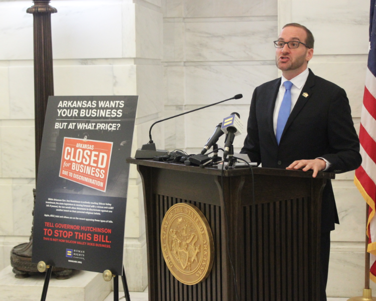
M210 273L214 259L213 234L196 206L178 203L166 212L161 246L168 268L180 282L193 285Z

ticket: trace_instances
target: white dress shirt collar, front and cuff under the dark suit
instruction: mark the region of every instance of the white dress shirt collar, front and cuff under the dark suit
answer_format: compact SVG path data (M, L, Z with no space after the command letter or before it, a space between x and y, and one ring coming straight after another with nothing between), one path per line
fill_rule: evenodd
M295 104L296 104L296 102L297 102L297 100L298 100L298 98L301 94L301 90L303 89L303 86L304 86L305 82L307 81L308 74L309 74L309 70L308 70L308 67L307 67L307 69L305 69L302 73L300 73L298 76L295 76L293 79L290 80L290 82L292 83L290 113L291 113L292 109L294 108L294 106L295 106ZM284 93L286 91L286 89L283 85L283 83L285 81L287 81L287 80L282 75L281 85L279 86L279 91L278 91L278 94L277 94L277 99L275 100L275 106L274 106L274 112L273 112L274 135L277 133L277 120L278 120L279 108L281 107L283 96L284 96ZM301 159L303 159L303 158L301 158ZM326 166L325 166L325 169L323 169L323 171L327 170L331 165L324 158L316 158L316 159L322 159L326 162Z

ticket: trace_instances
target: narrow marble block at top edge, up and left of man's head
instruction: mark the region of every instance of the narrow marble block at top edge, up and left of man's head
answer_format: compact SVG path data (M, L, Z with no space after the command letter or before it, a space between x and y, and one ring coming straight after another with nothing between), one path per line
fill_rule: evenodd
M184 0L184 17L275 16L276 0Z

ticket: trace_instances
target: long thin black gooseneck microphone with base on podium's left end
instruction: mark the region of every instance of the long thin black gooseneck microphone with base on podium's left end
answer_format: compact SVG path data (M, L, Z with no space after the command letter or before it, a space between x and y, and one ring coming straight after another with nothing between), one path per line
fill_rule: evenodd
M174 116L171 116L171 117L168 117L168 118L165 118L165 119L162 119L162 120L158 120L156 122L154 122L150 129L149 129L149 143L147 144L144 144L142 146L142 148L139 148L137 151L136 151L136 154L135 154L135 158L136 159L153 159L154 156L163 156L165 155L168 151L167 150L157 150L156 149L156 146L155 146L155 143L153 142L153 139L151 137L151 129L153 128L153 126L159 122L162 122L162 121L166 121L166 120L169 120L169 119L172 119L172 118L175 118L175 117L178 117L178 116L182 116L182 115L185 115L185 114L188 114L188 113L192 113L194 111L198 111L198 110L201 110L201 109L205 109L205 108L208 108L208 107L211 107L211 106L215 106L217 104L220 104L220 103L223 103L225 101L228 101L228 100L232 100L232 99L240 99L242 98L243 95L242 94L237 94L235 95L234 97L231 97L229 99L225 99L225 100L222 100L222 101L219 101L217 103L214 103L214 104L211 104L211 105L207 105L207 106L203 106L201 108L197 108L197 109L194 109L194 110L191 110L191 111L188 111L188 112L185 112L185 113L181 113L181 114L178 114L178 115L174 115Z

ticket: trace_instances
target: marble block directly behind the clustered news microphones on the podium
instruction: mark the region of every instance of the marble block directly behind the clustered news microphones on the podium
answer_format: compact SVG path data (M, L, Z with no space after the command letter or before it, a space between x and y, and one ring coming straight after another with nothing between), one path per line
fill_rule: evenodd
M231 106L227 110L202 110L185 116L185 140L189 148L204 147L208 138L213 134L215 127L218 123L222 122L223 118L229 116L233 109ZM246 121L248 119L248 110L236 110L240 114L244 128L246 127ZM244 139L247 133L246 130L234 139L234 148L241 148L244 143ZM225 135L219 138L218 144L224 145Z

